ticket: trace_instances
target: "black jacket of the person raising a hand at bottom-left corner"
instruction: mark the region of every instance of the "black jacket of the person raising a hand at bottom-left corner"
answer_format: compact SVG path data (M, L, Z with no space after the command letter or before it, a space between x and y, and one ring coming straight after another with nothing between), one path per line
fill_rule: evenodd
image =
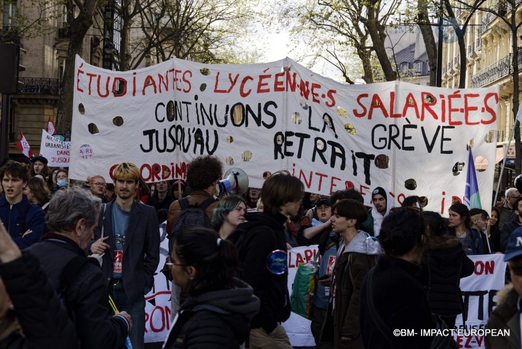
M36 258L24 253L14 261L0 264L0 276L23 330L23 336L11 333L0 340L0 348L79 348L74 324ZM1 332L0 338L7 334Z

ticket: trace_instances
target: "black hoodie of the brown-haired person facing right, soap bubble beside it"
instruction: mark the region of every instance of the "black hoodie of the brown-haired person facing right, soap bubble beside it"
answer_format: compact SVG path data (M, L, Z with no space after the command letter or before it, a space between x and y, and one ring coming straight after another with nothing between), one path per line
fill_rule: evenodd
M239 247L240 278L254 288L254 295L261 302L251 327L262 327L269 333L278 322L290 317L288 269L282 274L274 274L267 268L267 258L273 251L287 252L283 226L287 217L252 212L246 213L245 219L247 222L241 223L228 239L237 242L236 247Z

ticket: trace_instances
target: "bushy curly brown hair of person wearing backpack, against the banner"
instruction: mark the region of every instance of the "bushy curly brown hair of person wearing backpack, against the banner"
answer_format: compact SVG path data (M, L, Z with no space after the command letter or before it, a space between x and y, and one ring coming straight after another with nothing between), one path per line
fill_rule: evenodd
M223 164L215 156L198 156L188 165L186 184L192 190L204 190L218 181L223 174Z

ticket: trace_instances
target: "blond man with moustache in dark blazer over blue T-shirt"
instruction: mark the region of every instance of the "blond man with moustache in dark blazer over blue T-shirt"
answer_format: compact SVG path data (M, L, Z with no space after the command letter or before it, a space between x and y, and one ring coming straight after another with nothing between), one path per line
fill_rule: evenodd
M155 208L134 201L139 177L132 162L114 169L116 199L100 214L90 247L92 253L104 253L103 276L116 307L131 314L134 327L129 338L134 349L144 348L145 295L152 289L160 250Z

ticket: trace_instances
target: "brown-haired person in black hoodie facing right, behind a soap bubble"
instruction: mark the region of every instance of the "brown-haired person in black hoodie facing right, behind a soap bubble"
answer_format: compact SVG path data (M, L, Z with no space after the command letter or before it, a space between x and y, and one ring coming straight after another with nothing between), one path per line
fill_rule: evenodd
M288 216L299 213L304 185L288 171L279 171L264 182L261 197L264 211L246 213L246 222L228 239L238 247L240 278L254 288L261 301L259 313L252 320L250 348L291 349L280 324L290 317L284 224Z

